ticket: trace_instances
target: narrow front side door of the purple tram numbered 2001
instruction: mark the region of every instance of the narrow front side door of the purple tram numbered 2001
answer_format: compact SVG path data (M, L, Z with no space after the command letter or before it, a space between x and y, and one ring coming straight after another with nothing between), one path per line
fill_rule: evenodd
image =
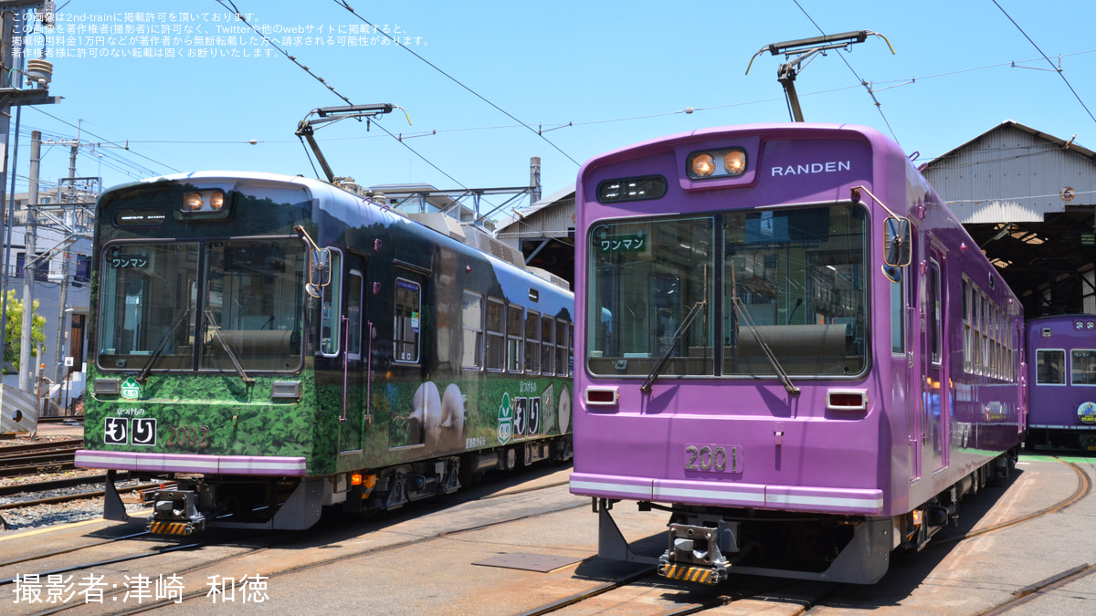
M921 278L921 351L923 362L922 376L922 453L934 471L948 465L950 386L948 384L945 323L947 315L946 294L944 293L944 273L940 264L944 259L936 250L929 250L929 259L923 262L924 275Z

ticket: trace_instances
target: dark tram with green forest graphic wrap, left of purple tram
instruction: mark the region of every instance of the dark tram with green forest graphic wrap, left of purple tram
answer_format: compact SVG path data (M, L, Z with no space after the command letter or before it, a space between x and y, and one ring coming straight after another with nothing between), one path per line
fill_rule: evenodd
M185 534L570 457L573 296L477 229L260 173L118 186L98 214L77 464L110 469L109 518L117 470L178 481L150 527Z

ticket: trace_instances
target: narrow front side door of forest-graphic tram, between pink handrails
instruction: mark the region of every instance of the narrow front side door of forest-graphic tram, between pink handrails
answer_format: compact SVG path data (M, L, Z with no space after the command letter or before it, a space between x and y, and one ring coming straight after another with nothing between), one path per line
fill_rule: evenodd
M339 452L359 452L365 440L368 344L372 324L365 320L366 262L349 252L342 267L340 365L342 406L339 415Z

